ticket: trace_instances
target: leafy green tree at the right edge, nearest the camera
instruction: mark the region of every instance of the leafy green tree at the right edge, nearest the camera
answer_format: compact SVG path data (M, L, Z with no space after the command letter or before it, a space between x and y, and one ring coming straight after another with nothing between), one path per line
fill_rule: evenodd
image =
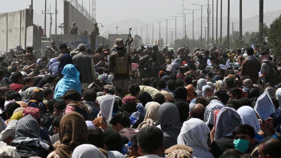
M276 18L271 24L267 34L268 46L272 53L280 59L281 57L281 16Z

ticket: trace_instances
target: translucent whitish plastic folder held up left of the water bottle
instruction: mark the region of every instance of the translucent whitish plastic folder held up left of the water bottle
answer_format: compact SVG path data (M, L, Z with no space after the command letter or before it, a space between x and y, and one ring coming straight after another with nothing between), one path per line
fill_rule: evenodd
M114 105L115 95L108 96L103 99L100 103L101 107L101 117L104 118L106 121L111 120L113 105Z

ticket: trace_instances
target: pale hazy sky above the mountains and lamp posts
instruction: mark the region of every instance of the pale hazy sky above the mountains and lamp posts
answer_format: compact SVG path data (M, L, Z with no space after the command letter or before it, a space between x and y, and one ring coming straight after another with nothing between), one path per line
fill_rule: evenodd
M55 12L55 1L47 0L47 8L52 4L51 12ZM220 0L218 0L218 8L220 17ZM223 1L223 17L227 16L227 0ZM78 0L82 4L82 0ZM153 20L160 20L160 18L172 18L168 16L179 16L177 12L183 12L186 9L200 9L200 6L191 5L191 3L205 5L208 4L208 0L96 0L96 21L102 24L111 24L119 20L124 19L138 19L142 22L153 22ZM92 0L90 0L92 5ZM1 0L1 12L12 12L28 8L31 4L31 0ZM42 13L44 10L44 0L33 0L33 9L38 13ZM89 9L89 0L83 0L84 6ZM209 4L212 4L212 0L209 0ZM265 0L264 12L280 10L280 0ZM214 9L216 7L216 0L214 0ZM213 7L211 6L213 9ZM92 9L92 8L91 8ZM57 0L57 21L63 22L63 0ZM92 12L92 10L91 10ZM192 12L184 10L185 13ZM216 10L214 10L214 17ZM203 16L207 15L207 6L203 6ZM259 15L259 0L243 0L243 19L248 17L254 17ZM200 10L194 11L194 18L201 17ZM239 0L230 0L230 17L239 18ZM43 18L43 16L42 16ZM47 15L49 19L50 16ZM186 18L192 18L192 14L187 14ZM53 15L53 26L54 26ZM178 25L183 24L181 17L177 18ZM44 22L44 21L43 21ZM42 19L34 19L34 23L44 26ZM169 24L170 27L174 27L174 23ZM47 23L47 28L49 23ZM140 27L140 26L135 26ZM169 27L169 26L168 26ZM48 30L48 29L47 29Z

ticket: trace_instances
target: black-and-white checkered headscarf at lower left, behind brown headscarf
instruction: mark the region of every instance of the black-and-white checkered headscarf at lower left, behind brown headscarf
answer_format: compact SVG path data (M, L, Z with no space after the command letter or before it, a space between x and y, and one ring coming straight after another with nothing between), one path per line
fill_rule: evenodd
M41 139L38 121L33 116L27 115L17 121L14 138L19 137Z

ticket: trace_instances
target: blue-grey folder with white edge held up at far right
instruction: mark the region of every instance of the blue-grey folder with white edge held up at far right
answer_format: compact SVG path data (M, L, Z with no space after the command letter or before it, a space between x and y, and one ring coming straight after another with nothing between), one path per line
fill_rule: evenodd
M275 107L268 92L264 92L258 97L254 110L258 114L261 121L266 121L269 119L270 114L275 112Z

